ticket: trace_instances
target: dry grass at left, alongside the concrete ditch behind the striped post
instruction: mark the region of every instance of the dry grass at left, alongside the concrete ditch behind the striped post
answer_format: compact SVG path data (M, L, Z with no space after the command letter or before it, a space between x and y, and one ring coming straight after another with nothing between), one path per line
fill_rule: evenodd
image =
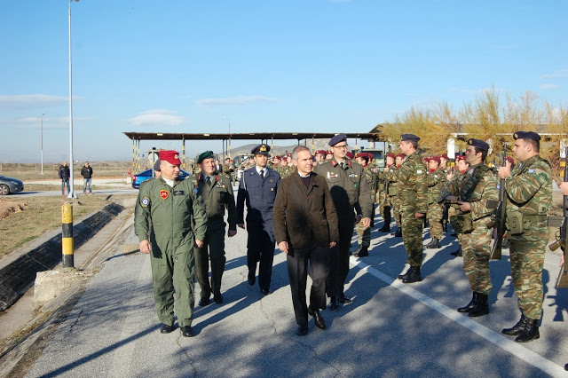
M123 196L121 196L123 197ZM0 201L8 201L0 199ZM28 208L10 217L0 219L0 257L10 254L30 240L42 236L45 232L61 229L61 205L59 196L28 197L25 199ZM77 219L99 211L109 201L106 195L84 196L72 201L73 218ZM79 204L81 203L81 204Z

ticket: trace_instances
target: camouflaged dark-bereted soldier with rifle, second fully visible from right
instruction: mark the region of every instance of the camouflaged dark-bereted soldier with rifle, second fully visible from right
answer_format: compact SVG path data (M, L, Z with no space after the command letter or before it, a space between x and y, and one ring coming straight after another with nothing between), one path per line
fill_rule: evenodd
M489 145L480 139L469 139L465 159L469 170L463 176L461 185L453 181L443 189L440 198L458 201L460 214L452 217L456 232L461 232L463 270L469 280L473 295L471 301L459 312L468 312L469 317L489 313L487 297L491 292L489 256L491 255L491 233L487 228L493 209L487 208L487 200L498 200L499 190L493 171L485 165Z

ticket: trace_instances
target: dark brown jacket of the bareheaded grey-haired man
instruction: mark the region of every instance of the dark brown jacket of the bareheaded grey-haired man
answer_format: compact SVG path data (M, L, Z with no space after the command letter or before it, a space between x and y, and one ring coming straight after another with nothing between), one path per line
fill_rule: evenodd
M274 202L274 237L293 248L339 241L337 213L326 180L314 172L310 178L308 187L297 172L282 178Z

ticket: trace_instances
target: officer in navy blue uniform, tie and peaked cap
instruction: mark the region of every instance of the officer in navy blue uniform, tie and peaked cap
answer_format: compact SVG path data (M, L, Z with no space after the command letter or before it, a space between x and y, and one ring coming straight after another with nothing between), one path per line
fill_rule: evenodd
M256 282L256 264L258 286L264 295L271 294L272 261L274 259L274 232L272 230L272 208L280 174L266 168L270 146L258 145L251 150L255 155L255 166L242 172L237 194L237 225L245 228L244 209L247 202L247 265L248 285Z

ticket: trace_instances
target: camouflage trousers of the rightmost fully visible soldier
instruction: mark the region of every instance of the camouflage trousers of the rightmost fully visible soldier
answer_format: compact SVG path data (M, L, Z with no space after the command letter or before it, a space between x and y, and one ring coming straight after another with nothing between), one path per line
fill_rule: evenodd
M542 268L547 241L548 235L535 241L509 239L513 286L518 305L528 319L540 319L542 312Z

